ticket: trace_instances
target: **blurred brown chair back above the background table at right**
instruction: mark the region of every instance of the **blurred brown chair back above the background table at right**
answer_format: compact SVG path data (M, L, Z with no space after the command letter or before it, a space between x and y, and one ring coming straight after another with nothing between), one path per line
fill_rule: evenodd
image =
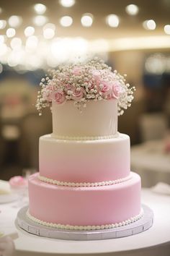
M166 135L168 120L163 113L142 114L139 118L139 129L142 142L161 140Z

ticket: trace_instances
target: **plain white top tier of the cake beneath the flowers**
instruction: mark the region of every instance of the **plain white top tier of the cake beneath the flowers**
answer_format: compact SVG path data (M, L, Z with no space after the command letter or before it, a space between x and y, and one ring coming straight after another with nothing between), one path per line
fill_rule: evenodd
M117 100L89 101L82 111L73 101L52 103L53 137L114 137L117 134Z

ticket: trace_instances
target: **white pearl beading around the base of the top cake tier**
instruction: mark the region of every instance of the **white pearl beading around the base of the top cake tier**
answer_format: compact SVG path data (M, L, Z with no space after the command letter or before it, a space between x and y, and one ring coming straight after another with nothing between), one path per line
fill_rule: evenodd
M108 140L119 137L120 133L116 132L115 135L105 135L105 136L62 136L51 134L51 137L57 140Z

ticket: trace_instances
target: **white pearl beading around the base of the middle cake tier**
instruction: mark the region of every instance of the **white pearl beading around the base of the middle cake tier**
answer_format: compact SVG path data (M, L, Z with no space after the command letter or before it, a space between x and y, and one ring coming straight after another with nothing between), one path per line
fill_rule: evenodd
M49 179L45 176L38 176L38 179L40 179L40 181L42 182L47 182L53 185L58 185L58 186L67 186L67 187L100 187L100 186L108 186L108 185L113 185L113 184L119 184L122 182L126 182L129 179L131 179L131 175L129 175L128 177L122 178L122 179L115 179L112 181L108 181L108 182L60 182L56 179Z

